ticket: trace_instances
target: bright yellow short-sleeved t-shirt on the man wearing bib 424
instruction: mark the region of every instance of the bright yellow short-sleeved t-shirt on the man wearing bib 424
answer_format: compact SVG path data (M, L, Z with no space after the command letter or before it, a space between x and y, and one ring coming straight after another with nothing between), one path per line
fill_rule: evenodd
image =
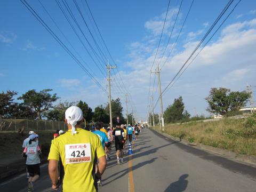
M105 156L105 152L96 134L80 128L76 131L72 135L68 130L52 141L48 160L59 161L61 157L65 170L63 191L96 191L97 183L93 179L95 163L97 158ZM82 162L74 163L76 161Z

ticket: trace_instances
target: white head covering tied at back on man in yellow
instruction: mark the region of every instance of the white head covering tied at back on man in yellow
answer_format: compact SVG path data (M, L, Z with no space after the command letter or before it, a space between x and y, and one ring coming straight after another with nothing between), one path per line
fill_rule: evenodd
M83 111L79 107L71 106L65 111L65 118L67 119L68 124L72 126L71 132L74 135L76 133L76 123L83 119Z

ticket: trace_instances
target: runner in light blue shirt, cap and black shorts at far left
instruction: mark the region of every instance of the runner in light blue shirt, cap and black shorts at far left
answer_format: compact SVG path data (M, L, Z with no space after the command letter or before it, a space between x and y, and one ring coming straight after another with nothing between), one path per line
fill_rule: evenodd
M39 147L38 142L36 142L36 134L30 134L29 141L22 153L22 156L27 157L26 165L29 172L28 191L34 191L33 183L39 179L41 154L41 148Z

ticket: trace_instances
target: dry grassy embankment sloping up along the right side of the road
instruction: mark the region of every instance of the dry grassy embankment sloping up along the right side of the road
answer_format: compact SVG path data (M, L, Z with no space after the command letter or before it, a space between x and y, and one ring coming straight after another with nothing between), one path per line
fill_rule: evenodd
M159 126L153 129L160 131ZM167 124L164 132L189 142L227 149L237 154L256 155L256 114L245 119Z

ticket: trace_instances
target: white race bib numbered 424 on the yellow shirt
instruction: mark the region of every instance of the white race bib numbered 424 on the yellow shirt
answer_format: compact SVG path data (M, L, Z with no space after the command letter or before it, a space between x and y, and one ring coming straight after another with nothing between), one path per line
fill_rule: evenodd
M91 144L65 145L66 164L91 162Z

